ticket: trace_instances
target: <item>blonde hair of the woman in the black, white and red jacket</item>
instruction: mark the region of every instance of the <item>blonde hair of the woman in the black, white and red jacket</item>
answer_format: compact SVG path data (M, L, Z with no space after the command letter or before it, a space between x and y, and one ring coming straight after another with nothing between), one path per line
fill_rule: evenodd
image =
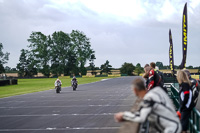
M191 85L191 82L187 76L187 74L184 72L184 70L179 70L177 72L177 80L178 80L178 83L181 84L181 83L188 83L189 85Z

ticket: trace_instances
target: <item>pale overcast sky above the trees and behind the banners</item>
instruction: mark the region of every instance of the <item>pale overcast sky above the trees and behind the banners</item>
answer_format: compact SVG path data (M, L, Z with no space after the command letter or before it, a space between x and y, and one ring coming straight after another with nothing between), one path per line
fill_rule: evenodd
M162 1L162 2L161 2ZM169 64L169 28L174 61L182 60L182 12L188 2L187 66L200 66L200 0L0 0L0 42L16 67L32 31L83 31L91 38L96 66L124 62Z

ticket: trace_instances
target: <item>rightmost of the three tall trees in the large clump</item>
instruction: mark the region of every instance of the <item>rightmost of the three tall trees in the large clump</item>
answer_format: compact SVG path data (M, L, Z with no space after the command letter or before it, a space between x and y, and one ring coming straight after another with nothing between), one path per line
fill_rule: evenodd
M72 30L70 37L77 57L80 73L81 75L85 75L87 73L87 69L85 68L86 61L89 60L90 56L94 53L91 49L90 39L83 32L78 30Z

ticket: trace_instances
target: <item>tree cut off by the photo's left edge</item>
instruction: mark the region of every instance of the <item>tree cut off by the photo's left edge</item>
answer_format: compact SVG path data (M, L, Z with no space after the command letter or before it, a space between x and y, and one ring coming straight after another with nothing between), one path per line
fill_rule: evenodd
M3 52L3 44L0 43L0 74L5 72L5 69L3 67L4 64L6 64L9 60L10 53Z

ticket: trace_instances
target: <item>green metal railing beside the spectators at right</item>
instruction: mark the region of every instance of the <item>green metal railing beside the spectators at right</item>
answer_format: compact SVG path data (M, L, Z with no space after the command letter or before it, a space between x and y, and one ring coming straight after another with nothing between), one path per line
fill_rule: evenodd
M179 109L179 91L175 87L177 83L165 83L167 89L168 89L168 94L170 98L172 99L176 109ZM189 119L189 130L190 133L200 133L199 127L200 127L200 113L196 108L193 108L191 117Z

